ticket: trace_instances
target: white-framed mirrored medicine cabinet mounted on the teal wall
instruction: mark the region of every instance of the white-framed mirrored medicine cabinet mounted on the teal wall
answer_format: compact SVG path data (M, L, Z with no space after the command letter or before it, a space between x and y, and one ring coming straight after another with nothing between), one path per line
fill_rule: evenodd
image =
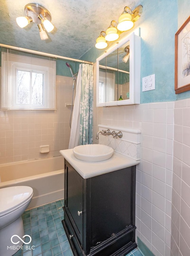
M96 59L96 106L140 104L140 37L132 33Z

